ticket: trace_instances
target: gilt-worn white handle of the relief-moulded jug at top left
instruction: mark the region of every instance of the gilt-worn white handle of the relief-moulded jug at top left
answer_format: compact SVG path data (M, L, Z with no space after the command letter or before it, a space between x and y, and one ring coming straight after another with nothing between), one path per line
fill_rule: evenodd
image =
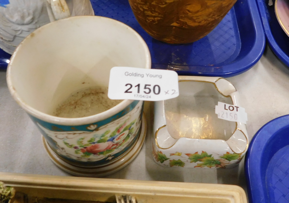
M46 8L50 22L71 16L65 0L47 0Z

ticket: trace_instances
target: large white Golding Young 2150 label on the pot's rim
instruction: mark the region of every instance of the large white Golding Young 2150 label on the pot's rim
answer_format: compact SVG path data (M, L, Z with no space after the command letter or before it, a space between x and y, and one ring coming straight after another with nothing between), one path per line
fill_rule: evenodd
M179 96L178 75L172 70L113 67L108 98L161 101Z

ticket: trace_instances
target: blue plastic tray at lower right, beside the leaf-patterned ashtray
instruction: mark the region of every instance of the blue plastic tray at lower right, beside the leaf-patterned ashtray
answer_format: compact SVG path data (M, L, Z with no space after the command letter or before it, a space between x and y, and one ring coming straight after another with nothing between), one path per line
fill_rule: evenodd
M250 203L289 203L289 115L265 124L245 158Z

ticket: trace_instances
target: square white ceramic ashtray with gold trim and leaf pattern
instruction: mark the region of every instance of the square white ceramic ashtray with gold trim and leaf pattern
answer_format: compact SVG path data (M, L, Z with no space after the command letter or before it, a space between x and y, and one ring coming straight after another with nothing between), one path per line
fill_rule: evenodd
M169 167L236 166L249 144L246 125L218 118L218 102L240 106L229 81L179 76L179 96L155 102L154 160Z

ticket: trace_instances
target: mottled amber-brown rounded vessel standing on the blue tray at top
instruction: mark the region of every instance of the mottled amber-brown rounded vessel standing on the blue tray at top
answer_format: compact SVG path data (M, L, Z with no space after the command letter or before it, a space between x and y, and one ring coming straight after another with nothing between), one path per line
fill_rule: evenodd
M129 0L134 16L153 38L191 43L211 32L237 0Z

